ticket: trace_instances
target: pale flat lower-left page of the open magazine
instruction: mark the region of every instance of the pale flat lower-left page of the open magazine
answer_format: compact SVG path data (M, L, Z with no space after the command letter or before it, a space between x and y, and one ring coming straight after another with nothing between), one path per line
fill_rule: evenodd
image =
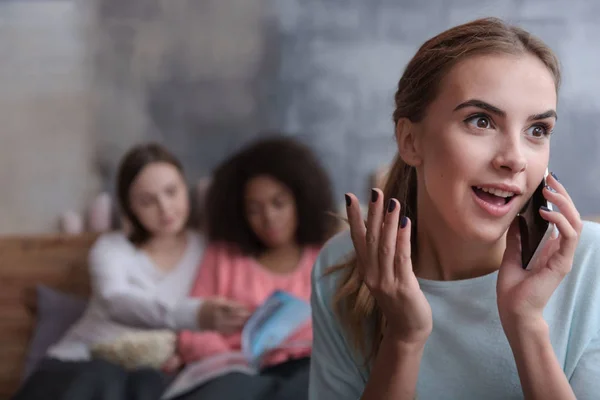
M230 372L241 372L249 375L258 373L255 368L249 365L246 356L241 352L218 354L186 365L169 385L161 400L181 396L211 379Z

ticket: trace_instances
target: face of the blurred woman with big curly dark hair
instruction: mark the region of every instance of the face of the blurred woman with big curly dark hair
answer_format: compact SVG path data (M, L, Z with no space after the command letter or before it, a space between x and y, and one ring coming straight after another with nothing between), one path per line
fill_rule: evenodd
M246 184L244 206L250 228L266 247L295 242L296 200L287 186L270 176L256 176Z

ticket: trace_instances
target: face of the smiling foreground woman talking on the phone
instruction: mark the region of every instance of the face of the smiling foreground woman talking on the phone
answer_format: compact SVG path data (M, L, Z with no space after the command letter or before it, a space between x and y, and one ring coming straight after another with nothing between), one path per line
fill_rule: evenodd
M555 110L553 76L534 56L457 64L411 127L419 212L469 240L501 238L543 179Z

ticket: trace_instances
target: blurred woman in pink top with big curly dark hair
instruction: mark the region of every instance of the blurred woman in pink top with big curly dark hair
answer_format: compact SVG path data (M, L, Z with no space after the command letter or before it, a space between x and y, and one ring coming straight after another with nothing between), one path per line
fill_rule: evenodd
M310 301L312 266L337 224L333 210L329 179L309 148L274 137L243 149L217 169L209 189L210 244L192 295L223 296L250 310L276 290ZM180 357L187 363L239 351L240 331L184 331ZM190 398L306 399L310 321L292 343L268 354L260 376L230 374Z

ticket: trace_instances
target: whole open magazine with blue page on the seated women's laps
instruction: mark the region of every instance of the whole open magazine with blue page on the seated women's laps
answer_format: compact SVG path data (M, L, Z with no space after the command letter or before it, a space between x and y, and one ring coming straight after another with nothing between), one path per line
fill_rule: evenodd
M240 352L218 354L186 365L162 399L175 398L230 372L257 374L262 360L270 351L310 345L286 342L310 319L310 314L310 304L306 301L281 291L273 293L244 325Z

